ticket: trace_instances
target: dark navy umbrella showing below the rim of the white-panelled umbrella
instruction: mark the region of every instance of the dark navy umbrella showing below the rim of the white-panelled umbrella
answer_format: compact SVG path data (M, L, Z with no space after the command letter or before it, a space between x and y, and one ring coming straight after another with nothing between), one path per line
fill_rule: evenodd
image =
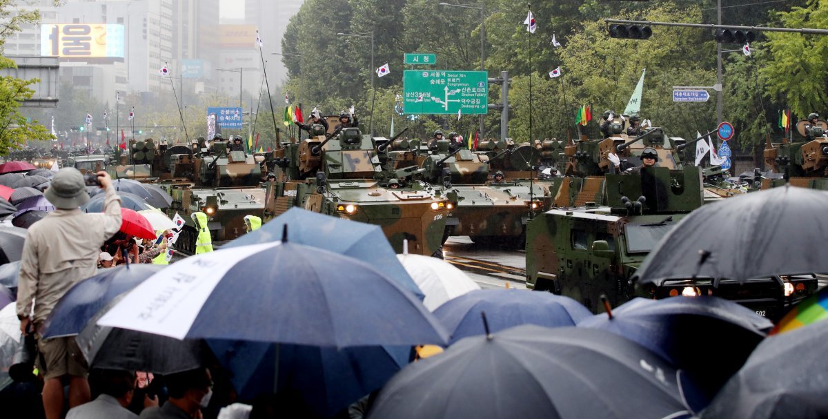
M239 340L207 343L229 372L240 399L252 400L259 393L293 393L318 417L330 417L383 387L408 364L411 351L409 346L336 349Z

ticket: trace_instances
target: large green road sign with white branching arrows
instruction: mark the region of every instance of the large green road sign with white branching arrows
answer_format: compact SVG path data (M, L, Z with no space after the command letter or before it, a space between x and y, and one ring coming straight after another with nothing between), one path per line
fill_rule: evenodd
M479 115L489 110L489 73L459 70L405 70L403 113Z

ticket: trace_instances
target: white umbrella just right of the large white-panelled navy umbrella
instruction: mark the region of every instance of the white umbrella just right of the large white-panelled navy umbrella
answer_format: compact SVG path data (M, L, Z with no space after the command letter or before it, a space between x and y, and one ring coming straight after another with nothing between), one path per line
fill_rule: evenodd
M480 289L463 271L442 259L407 253L397 255L397 258L416 286L426 294L422 304L428 311L434 311L445 301L466 292Z

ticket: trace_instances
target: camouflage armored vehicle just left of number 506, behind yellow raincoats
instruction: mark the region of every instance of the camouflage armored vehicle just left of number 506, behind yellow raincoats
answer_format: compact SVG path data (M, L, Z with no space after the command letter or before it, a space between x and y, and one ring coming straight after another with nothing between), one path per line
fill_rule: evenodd
M188 147L180 151L181 154L170 155L169 175L195 175L195 178L177 181L171 177L159 184L166 186L172 196L169 214L181 214L187 223L176 247L195 252L198 234L190 215L198 211L209 217L208 227L214 241L232 240L246 233L244 216L259 216L265 207L262 168L258 162L244 152L228 152L226 142L214 142L201 157L193 157Z

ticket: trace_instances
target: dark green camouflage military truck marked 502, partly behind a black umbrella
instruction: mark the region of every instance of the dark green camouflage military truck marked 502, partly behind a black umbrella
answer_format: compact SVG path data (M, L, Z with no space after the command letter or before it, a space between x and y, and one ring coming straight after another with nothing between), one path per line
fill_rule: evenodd
M556 179L555 205L527 225L527 287L551 291L603 311L601 295L616 306L634 296L714 295L777 315L790 303L782 282L757 279L744 285L680 279L642 287L633 273L654 246L703 201L700 168L644 168L641 175ZM691 255L688 255L691 257ZM797 277L805 287L816 278Z

